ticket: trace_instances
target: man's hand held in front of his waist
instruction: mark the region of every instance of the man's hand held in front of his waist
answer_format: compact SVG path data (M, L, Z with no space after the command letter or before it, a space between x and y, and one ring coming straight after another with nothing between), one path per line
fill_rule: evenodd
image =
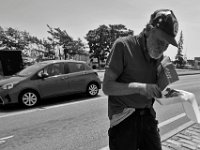
M141 83L138 85L139 93L148 98L161 98L162 93L160 88L156 84L144 84Z

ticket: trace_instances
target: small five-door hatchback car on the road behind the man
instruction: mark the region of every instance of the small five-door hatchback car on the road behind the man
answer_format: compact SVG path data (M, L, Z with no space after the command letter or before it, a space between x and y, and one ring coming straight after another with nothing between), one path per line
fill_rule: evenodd
M0 104L20 103L36 106L42 99L87 93L97 96L101 81L86 62L48 60L28 66L0 80Z

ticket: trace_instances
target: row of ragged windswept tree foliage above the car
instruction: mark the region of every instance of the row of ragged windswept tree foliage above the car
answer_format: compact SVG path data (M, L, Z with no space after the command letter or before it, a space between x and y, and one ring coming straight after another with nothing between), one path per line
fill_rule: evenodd
M49 25L47 27L47 32L51 36L41 40L26 31L12 27L4 29L0 26L0 48L21 50L23 56L29 56L32 50L37 50L44 52L45 56L49 58L55 58L56 46L63 49L65 59L73 57L75 54L86 54L85 45L80 38L73 40L65 30L61 30L59 27L52 28Z

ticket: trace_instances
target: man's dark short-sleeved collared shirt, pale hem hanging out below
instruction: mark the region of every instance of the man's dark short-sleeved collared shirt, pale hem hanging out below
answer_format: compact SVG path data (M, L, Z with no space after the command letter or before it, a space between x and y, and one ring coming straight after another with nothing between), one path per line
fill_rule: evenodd
M118 82L156 83L156 63L157 61L148 55L145 37L141 33L138 36L119 38L114 43L106 69L111 69L119 76ZM135 108L150 108L152 103L152 99L140 94L108 96L108 116L111 126L131 115Z

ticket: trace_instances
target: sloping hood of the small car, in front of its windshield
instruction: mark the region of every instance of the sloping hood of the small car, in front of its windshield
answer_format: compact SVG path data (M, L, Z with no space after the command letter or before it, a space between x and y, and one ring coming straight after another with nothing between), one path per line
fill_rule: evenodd
M7 84L7 83L20 82L24 79L25 79L25 77L20 77L20 76L5 76L0 79L0 86Z

